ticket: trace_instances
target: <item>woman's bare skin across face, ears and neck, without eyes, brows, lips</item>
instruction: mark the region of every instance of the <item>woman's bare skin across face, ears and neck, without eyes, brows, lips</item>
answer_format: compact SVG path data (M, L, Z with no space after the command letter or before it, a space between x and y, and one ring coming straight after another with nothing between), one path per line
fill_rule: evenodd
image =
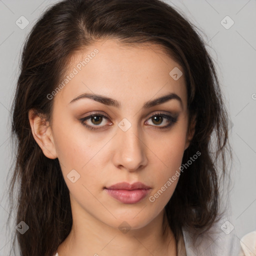
M34 139L46 157L58 158L69 189L73 226L57 251L59 256L176 255L172 231L162 235L162 220L178 178L154 202L149 196L178 170L194 133L194 122L188 129L184 76L174 80L169 75L174 67L182 68L157 45L127 46L108 39L73 55L67 74L95 48L95 57L51 99L51 124L29 111ZM88 98L69 103L85 92L116 99L121 106ZM183 108L177 99L142 108L144 102L170 92L181 98ZM98 122L103 128L94 131L78 119L95 111L109 120L103 118ZM149 118L159 111L178 114L177 121L160 129L168 120ZM123 118L131 124L126 131L118 126ZM86 123L96 126L91 118ZM80 175L74 183L67 177L72 169ZM104 191L121 181L141 181L151 190L139 202L124 204ZM118 228L123 221L130 226L126 233Z

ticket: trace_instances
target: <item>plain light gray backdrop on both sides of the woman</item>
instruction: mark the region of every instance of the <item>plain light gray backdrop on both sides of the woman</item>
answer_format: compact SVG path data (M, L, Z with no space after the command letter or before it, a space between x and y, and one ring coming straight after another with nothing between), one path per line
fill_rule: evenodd
M0 0L0 255L6 255L7 173L13 161L10 147L10 104L18 76L18 61L25 35L46 6L54 0ZM256 1L165 0L201 28L207 49L216 62L225 103L230 113L233 148L230 223L237 239L256 230ZM221 20L228 15L230 19ZM15 21L24 16L21 29ZM23 20L24 21L24 20ZM24 22L22 22L25 24ZM225 201L224 201L225 202ZM11 220L13 220L13 217ZM15 226L13 226L12 230Z

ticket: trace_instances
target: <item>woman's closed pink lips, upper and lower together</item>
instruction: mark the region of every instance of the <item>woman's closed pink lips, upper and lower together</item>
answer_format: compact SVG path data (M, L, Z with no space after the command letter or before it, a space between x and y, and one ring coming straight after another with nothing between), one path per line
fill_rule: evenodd
M151 187L141 182L135 182L132 184L127 182L120 182L105 187L104 190L118 201L131 204L142 200L149 193Z

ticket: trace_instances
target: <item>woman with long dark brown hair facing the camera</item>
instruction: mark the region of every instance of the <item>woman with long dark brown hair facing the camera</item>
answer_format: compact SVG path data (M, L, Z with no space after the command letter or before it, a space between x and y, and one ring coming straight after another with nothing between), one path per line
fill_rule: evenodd
M21 255L236 255L227 119L203 40L166 3L52 5L12 108Z

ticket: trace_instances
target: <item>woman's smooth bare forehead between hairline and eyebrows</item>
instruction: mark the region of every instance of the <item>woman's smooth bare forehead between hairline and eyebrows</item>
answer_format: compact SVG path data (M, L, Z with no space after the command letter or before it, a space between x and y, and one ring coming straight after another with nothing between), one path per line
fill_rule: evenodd
M172 70L183 72L157 44L122 44L114 39L97 41L72 55L61 90L54 96L54 104L67 104L85 92L120 102L131 99L144 102L154 95L174 92L186 107L184 75L173 79Z

